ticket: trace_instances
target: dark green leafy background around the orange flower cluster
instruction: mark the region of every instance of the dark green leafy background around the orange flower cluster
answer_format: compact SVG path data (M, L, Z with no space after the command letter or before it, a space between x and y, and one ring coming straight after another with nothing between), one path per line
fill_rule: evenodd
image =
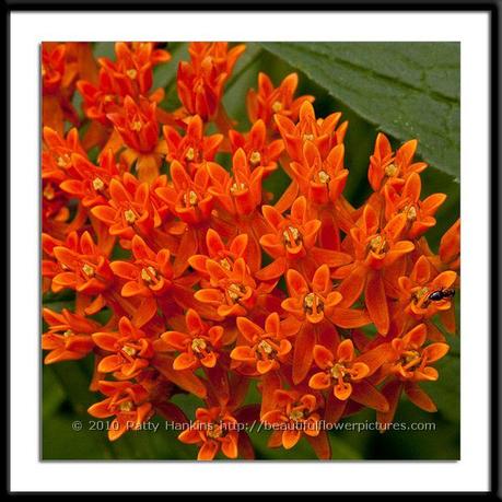
M360 206L370 187L366 172L378 131L387 133L393 147L407 139L422 141L419 157L431 167L422 174L422 198L444 192L447 201L436 214L437 224L427 237L434 252L441 236L459 215L459 45L389 43L389 44L247 44L226 85L224 105L236 119L237 130L248 130L245 96L257 86L259 71L278 85L289 73L300 77L296 95L316 96L316 115L324 117L342 112L349 120L346 136L346 167L349 180L345 195ZM175 89L177 62L188 59L187 44L166 45L173 59L155 68L153 89L166 90L161 106L173 110L179 106ZM96 57L114 58L113 43L94 44ZM324 59L323 59L324 58ZM77 91L74 104L80 109ZM375 112L376 110L376 112ZM394 118L390 118L394 117ZM97 152L91 152L90 156ZM266 182L276 197L288 185L280 171ZM455 296L459 332L459 294ZM55 311L72 308L71 292L48 293L44 305ZM106 317L106 312L101 314ZM427 413L401 399L395 421L423 423L421 431L331 431L334 459L458 459L459 458L459 339L446 335L448 354L435 364L440 380L423 384L439 411ZM139 431L125 434L115 443L106 431L90 430L94 419L86 413L101 399L89 390L92 359L42 366L42 457L44 459L195 459L197 447L180 444L174 431ZM194 417L201 401L188 395L173 399L185 413ZM257 402L259 394L252 387L248 402ZM373 422L375 413L365 410L346 419ZM82 430L72 429L80 421ZM427 425L432 423L432 425ZM421 428L421 425L419 425ZM250 437L257 459L315 459L310 444L302 439L291 451L269 450L269 432L254 431ZM219 457L220 458L220 457Z

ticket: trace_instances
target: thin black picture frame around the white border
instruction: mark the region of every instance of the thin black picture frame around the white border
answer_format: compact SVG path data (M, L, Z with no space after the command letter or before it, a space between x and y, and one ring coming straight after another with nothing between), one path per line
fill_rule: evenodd
M131 0L2 0L2 14L3 14L3 32L4 32L4 47L2 50L3 69L5 75L5 94L3 101L3 117L5 126L5 135L2 135L1 141L4 142L2 152L4 152L4 184L5 188L5 209L4 209L4 227L7 230L7 243L10 242L10 138L9 138L9 122L10 114L10 14L20 11L375 11L375 12L389 12L389 11L404 11L404 12L423 12L423 11L463 11L463 12L488 12L490 15L490 481L488 492L378 492L375 493L381 497L401 497L401 495L468 495L468 497L482 497L490 500L502 500L502 489L500 486L500 451L501 451L501 435L500 435L500 421L501 421L501 402L500 402L500 381L502 380L502 370L500 361L502 360L501 343L499 339L500 334L500 312L502 308L499 297L499 284L501 283L501 269L499 265L499 257L501 253L501 233L500 233L500 211L502 205L500 202L500 194L502 194L502 182L499 175L500 164L500 144L502 141L500 132L500 116L501 116L501 102L500 102L500 35L499 28L501 24L500 15L500 0L483 0L477 1L453 1L442 0L436 2L434 0L421 1L370 1L370 0L315 0L313 2L302 2L299 0L255 0L253 2L244 1L236 2L233 0L219 0L219 1L201 1L201 0L144 0L142 2L135 2ZM10 334L10 284L12 280L12 271L10 269L9 246L7 246L7 260L5 260L5 334ZM5 456L7 456L7 472L5 472L5 491L9 495L21 494L12 492L10 488L10 423L9 423L9 402L10 402L10 358L9 358L9 337L4 337L4 354L5 361L5 388L7 396L7 428L5 428ZM392 467L389 467L392 468ZM440 468L440 467L439 467ZM98 493L98 492L90 492ZM127 494L138 494L139 492L128 492ZM190 492L170 492L174 494L191 494ZM194 493L194 492L192 492ZM212 492L213 494L232 494L230 492ZM243 494L260 494L265 492L253 492ZM307 492L303 492L307 493ZM61 492L54 492L47 494L63 494ZM107 492L107 494L112 494ZM125 493L113 493L125 494ZM194 493L195 494L195 493ZM279 494L279 492L270 493ZM300 494L300 493L299 493ZM339 495L363 495L369 494L364 492L322 492L318 494L339 494Z

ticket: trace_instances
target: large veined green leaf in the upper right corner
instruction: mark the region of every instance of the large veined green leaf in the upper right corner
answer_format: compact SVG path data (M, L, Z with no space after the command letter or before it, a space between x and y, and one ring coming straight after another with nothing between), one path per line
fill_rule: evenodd
M457 43L264 43L384 132L459 177Z

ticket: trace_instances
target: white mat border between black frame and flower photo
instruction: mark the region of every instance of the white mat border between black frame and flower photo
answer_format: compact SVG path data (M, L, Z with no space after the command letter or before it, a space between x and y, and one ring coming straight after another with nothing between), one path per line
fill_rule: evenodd
M38 44L121 39L462 42L460 462L38 460ZM487 491L488 89L488 13L12 13L11 490Z

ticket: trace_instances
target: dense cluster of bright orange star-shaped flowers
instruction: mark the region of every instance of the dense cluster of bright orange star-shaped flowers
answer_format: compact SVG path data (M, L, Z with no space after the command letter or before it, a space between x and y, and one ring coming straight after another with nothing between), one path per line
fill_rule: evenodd
M354 208L348 124L295 97L296 74L275 87L260 73L236 130L222 97L244 50L190 44L167 110L157 44L97 61L85 44L44 46L43 284L74 292L72 311L44 310L45 362L94 358L103 399L89 412L113 419L112 441L159 415L186 425L199 459L253 458L243 425L258 421L270 447L304 436L330 458L324 422L364 408L392 422L402 393L435 410L420 383L455 331L459 222L432 252L445 196L421 196L417 141L395 151L383 133ZM264 182L278 170L290 184L275 200ZM200 399L195 417L178 393Z

